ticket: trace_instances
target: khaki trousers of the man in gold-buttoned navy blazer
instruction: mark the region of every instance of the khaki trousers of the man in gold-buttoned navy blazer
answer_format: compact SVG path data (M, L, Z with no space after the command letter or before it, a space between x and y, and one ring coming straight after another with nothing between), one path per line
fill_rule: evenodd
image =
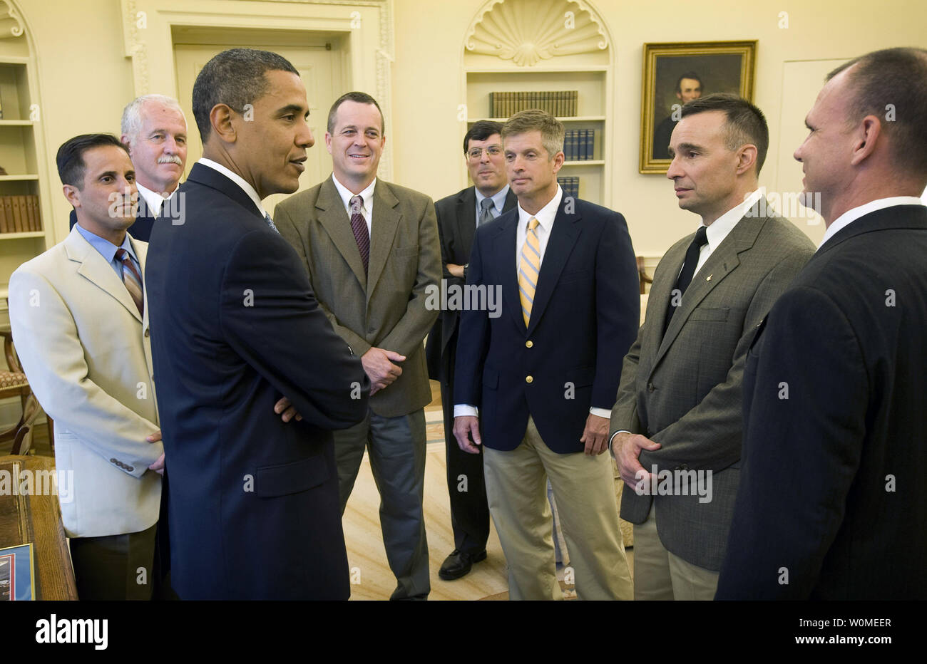
M607 454L557 454L528 418L521 445L483 449L489 513L509 567L510 599L563 599L557 583L547 479L553 487L579 599L631 599L615 479Z

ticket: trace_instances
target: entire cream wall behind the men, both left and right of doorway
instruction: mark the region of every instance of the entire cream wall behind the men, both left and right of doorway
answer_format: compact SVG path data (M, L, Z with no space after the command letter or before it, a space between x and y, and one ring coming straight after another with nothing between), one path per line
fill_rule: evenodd
M228 3L241 6L237 0ZM119 131L121 108L134 93L132 64L123 50L119 0L18 0L18 4L37 48L52 214L60 240L67 231L70 207L58 194L55 150L77 133ZM457 119L457 106L464 103L464 31L484 4L483 0L393 3L395 62L392 121L387 127L393 180L436 199L456 192L465 182L460 147L464 124ZM189 0L184 8L207 5L214 6ZM761 183L772 191L791 185L794 168L800 169L780 155L786 147L794 149L780 148L781 120L801 125L804 119L780 118L783 95L813 97L813 91L782 90L787 62L847 58L892 45L927 45L923 34L927 3L918 0L883 0L876 9L861 0L641 4L597 0L591 5L611 35L614 89L619 91L613 100L612 207L627 217L635 249L646 256L662 255L676 238L692 231L697 218L679 210L664 176L637 172L643 43L759 40L755 101L767 114L772 131ZM789 12L786 30L778 28L781 11ZM672 19L676 16L679 19ZM163 57L171 57L169 48ZM781 169L792 170L780 173ZM823 229L806 231L817 239Z

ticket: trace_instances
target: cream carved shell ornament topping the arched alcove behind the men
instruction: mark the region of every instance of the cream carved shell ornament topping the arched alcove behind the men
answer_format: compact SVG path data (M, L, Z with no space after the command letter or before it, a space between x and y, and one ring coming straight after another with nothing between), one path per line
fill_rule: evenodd
M531 67L553 56L602 51L608 37L579 0L493 0L470 25L465 47Z

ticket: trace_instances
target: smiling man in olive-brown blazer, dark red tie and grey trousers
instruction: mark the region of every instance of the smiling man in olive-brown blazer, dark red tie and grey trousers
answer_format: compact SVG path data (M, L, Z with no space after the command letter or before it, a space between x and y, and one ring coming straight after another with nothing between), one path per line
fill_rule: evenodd
M368 416L334 432L341 510L366 447L380 491L380 526L392 599L430 591L422 499L425 411L431 389L422 341L438 318L438 221L425 194L376 179L383 114L369 94L342 95L328 114L333 175L278 205L274 223L292 244L335 331L362 357ZM357 389L360 389L358 387Z

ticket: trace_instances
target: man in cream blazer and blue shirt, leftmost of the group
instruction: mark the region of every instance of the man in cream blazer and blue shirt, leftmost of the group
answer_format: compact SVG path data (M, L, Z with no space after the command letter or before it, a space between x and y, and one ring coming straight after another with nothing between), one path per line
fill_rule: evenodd
M61 518L81 599L148 599L164 450L145 315L147 244L126 229L137 195L125 145L110 134L57 152L77 224L19 266L9 312L22 367L55 420Z

